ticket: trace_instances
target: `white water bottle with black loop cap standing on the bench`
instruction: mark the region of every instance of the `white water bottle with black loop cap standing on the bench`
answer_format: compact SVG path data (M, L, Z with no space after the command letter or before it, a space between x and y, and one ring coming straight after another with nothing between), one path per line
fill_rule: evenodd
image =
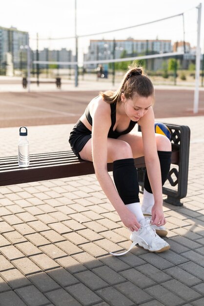
M21 131L25 129L25 131ZM20 138L18 144L18 151L19 151L19 167L28 167L29 166L29 142L27 140L27 128L20 127L19 130Z

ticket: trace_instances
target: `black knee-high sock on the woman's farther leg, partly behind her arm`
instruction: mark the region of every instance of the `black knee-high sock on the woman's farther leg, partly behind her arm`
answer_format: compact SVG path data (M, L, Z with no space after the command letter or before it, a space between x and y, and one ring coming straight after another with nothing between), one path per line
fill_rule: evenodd
M171 165L171 151L158 151L158 156L160 160L162 185L163 185L166 181ZM145 173L144 176L144 189L152 194L152 189L149 183L147 172Z

